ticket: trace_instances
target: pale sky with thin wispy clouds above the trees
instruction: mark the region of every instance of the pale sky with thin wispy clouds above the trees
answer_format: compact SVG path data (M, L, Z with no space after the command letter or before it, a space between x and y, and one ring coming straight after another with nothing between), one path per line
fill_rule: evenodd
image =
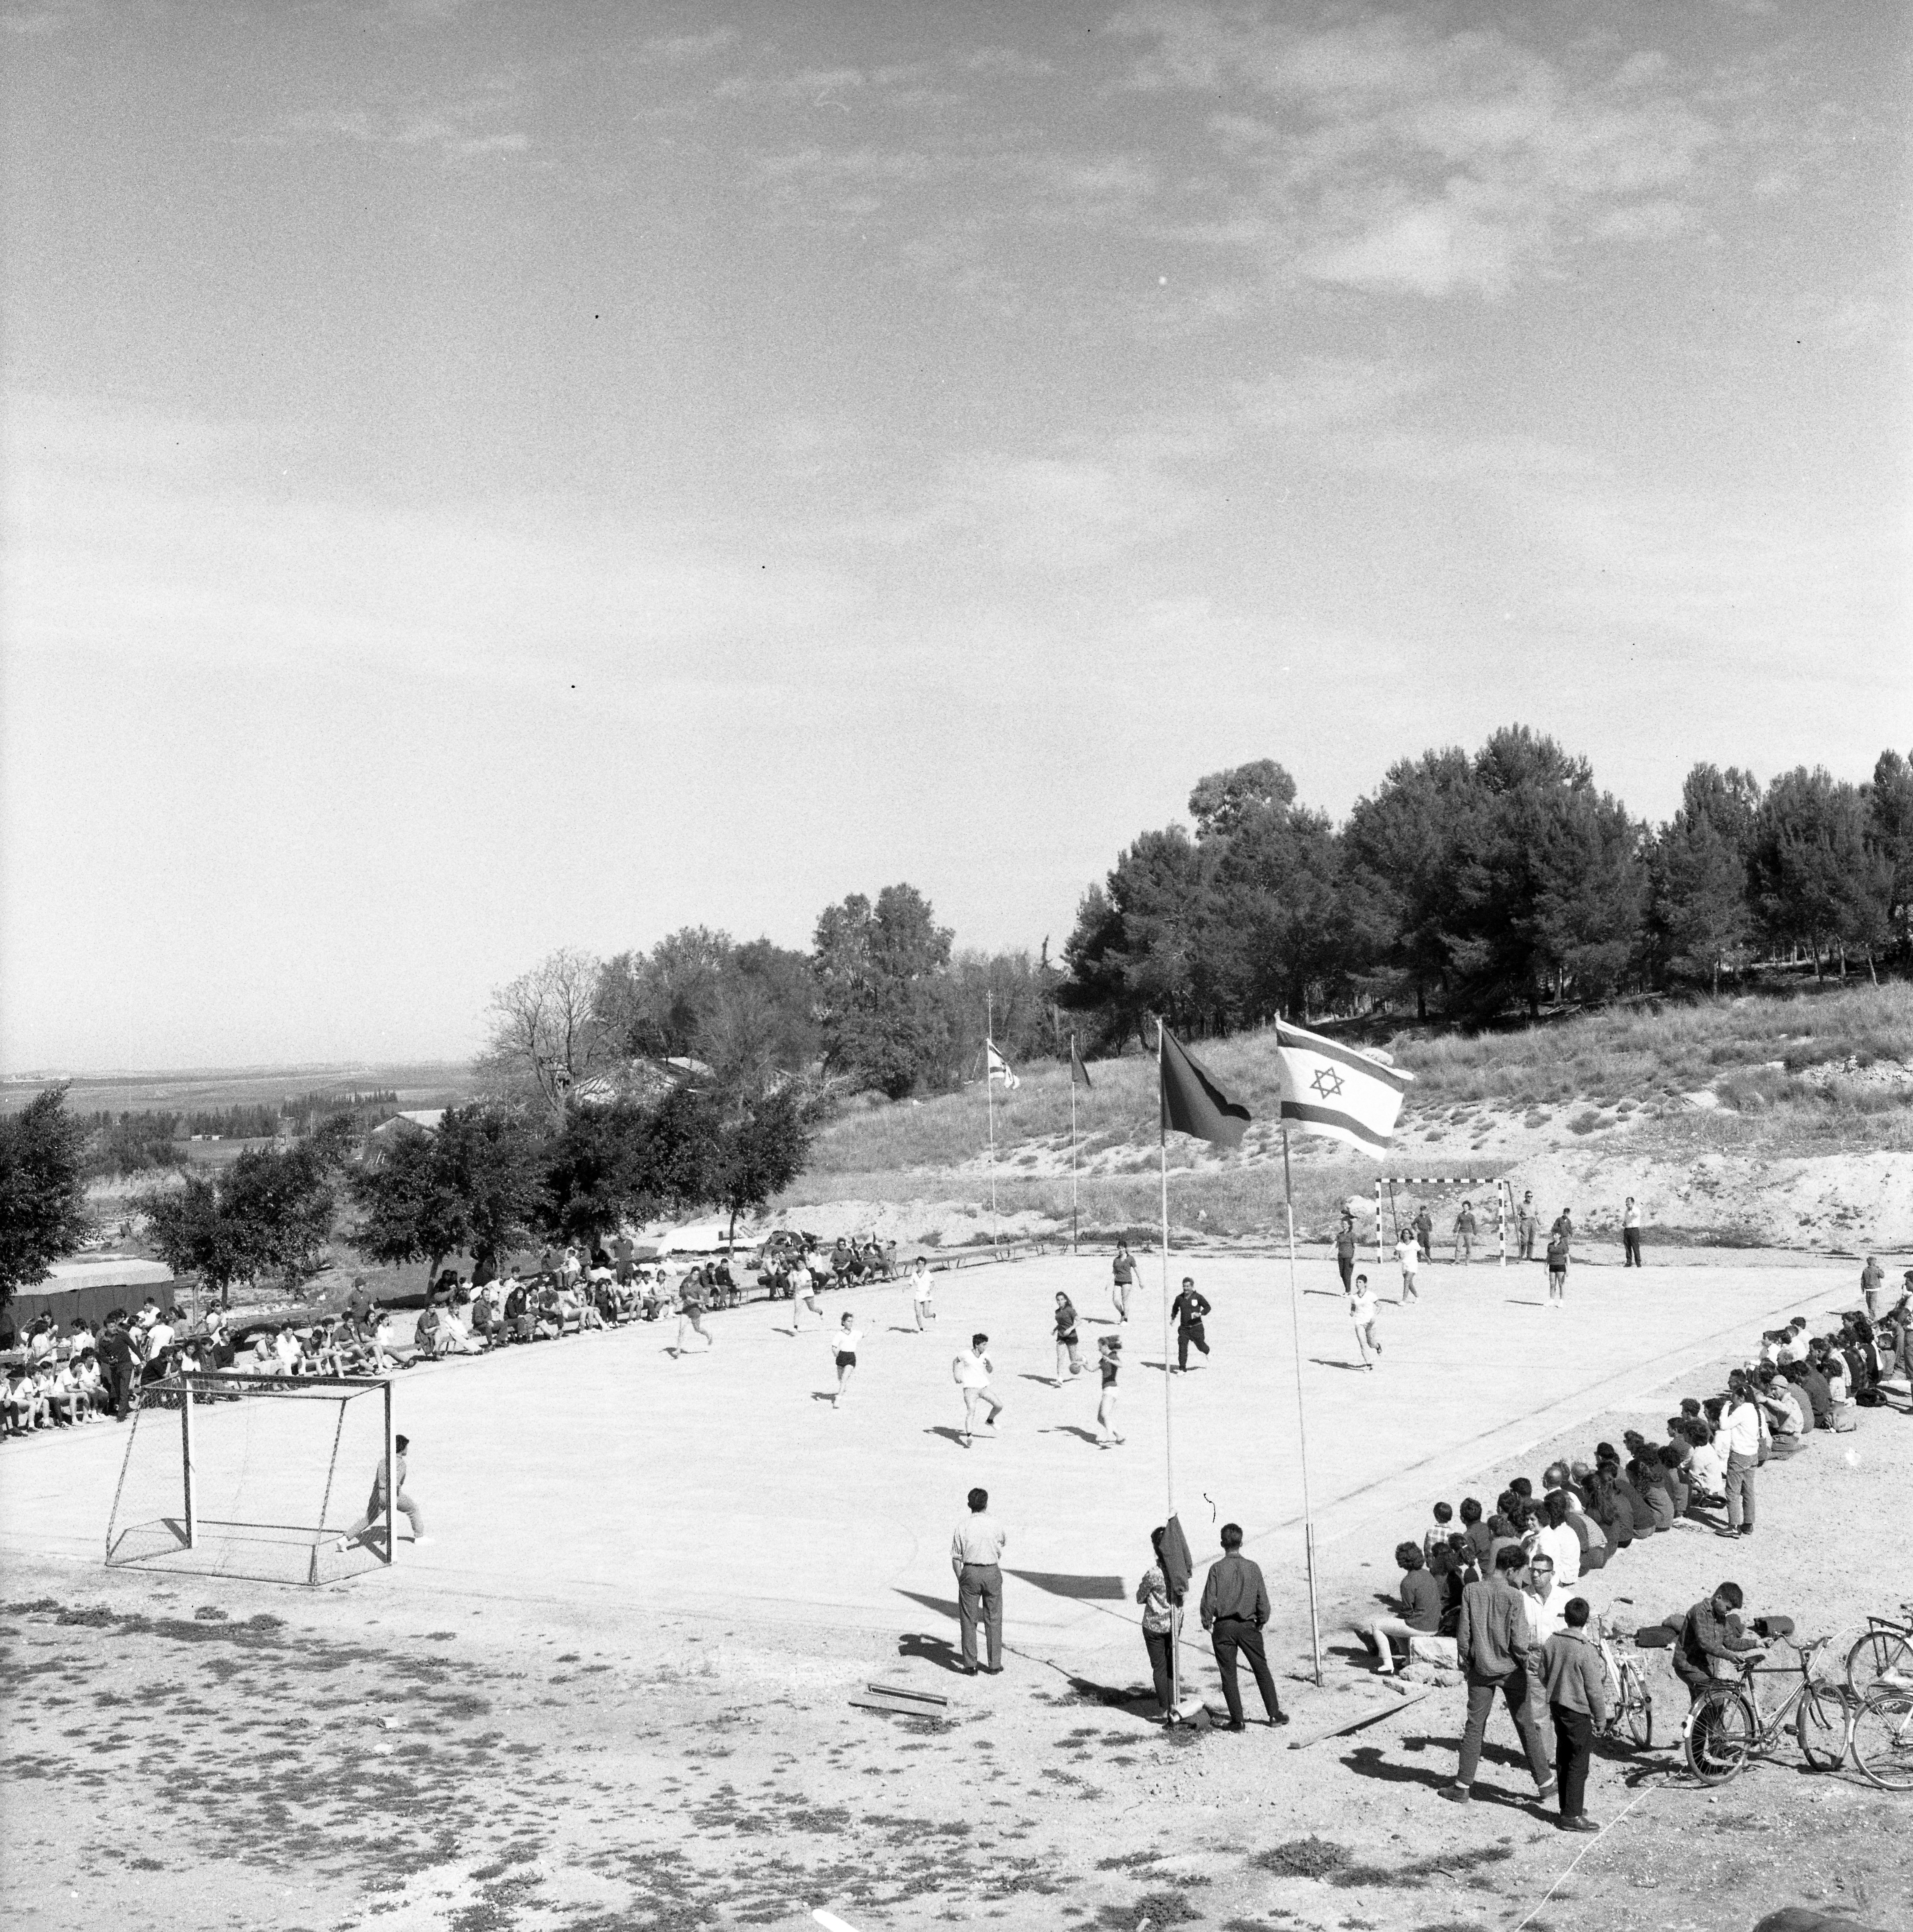
M1913 748L1896 6L0 14L0 1070L460 1057L1198 777Z

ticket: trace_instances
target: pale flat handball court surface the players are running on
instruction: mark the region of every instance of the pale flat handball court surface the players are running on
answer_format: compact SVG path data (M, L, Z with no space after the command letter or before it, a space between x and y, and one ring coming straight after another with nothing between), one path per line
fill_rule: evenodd
M864 1337L841 1410L827 1399L831 1341L815 1323L792 1337L788 1302L707 1316L715 1347L694 1337L684 1360L667 1352L674 1323L657 1321L408 1370L396 1426L412 1437L408 1488L429 1542L414 1549L402 1530L392 1569L332 1592L367 1613L402 1600L419 1613L512 1605L531 1623L628 1631L669 1611L759 1631L955 1638L949 1538L978 1484L1009 1532L1011 1646L1072 1667L1132 1650L1130 1592L1167 1493L1157 1260L1142 1271L1121 1331L1127 1443L1115 1449L1096 1445L1096 1339L1113 1329L1101 1254L939 1273L924 1335L902 1285L827 1293L829 1329L848 1308ZM1212 1354L1173 1378L1177 1509L1198 1565L1215 1553L1215 1524L1241 1522L1289 1621L1302 1488L1287 1260L1179 1256L1171 1271L1194 1275L1215 1304ZM1393 1269L1368 1271L1384 1296L1397 1293ZM1482 1470L1608 1410L1637 1408L1654 1430L1677 1393L1670 1383L1795 1312L1820 1325L1851 1306L1853 1275L1843 1260L1579 1265L1557 1312L1538 1265L1438 1264L1422 1269L1418 1304L1384 1300L1384 1354L1366 1372L1333 1264L1308 1256L1299 1283L1318 1542L1366 1536L1385 1567L1436 1497L1459 1501ZM1086 1364L1061 1389L1059 1289L1082 1318ZM997 1437L964 1449L951 1358L976 1329L991 1337L1005 1414ZM12 1445L0 1548L99 1565L124 1441L108 1422ZM369 1478L369 1461L342 1472L330 1528L352 1520Z

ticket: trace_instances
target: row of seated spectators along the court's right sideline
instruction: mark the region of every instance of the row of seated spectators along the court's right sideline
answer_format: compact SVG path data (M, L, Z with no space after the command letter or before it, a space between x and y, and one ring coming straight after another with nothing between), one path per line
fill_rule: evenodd
M1731 1370L1722 1393L1681 1399L1666 1441L1629 1430L1619 1449L1598 1443L1588 1461L1552 1463L1538 1495L1517 1476L1492 1513L1463 1497L1459 1526L1455 1507L1436 1503L1422 1540L1395 1548L1397 1611L1362 1619L1356 1636L1382 1671L1403 1658L1453 1667L1461 1592L1519 1544L1530 1559L1540 1644L1561 1627L1583 1577L1671 1530L1753 1536L1760 1466L1799 1455L1814 1434L1849 1434L1867 1410L1894 1408L1913 1416L1913 1304L1901 1300L1880 1321L1847 1314L1816 1337L1795 1318L1762 1337L1758 1356Z

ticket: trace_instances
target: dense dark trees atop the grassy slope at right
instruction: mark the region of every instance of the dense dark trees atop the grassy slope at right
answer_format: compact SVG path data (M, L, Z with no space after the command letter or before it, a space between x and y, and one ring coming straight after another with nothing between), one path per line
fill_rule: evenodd
M1470 1024L1627 989L1710 989L1756 964L1913 966L1913 763L1762 786L1695 765L1666 825L1525 726L1389 767L1343 825L1273 759L1202 779L1192 829L1127 846L1078 906L1057 1003L1117 1047L1277 1014Z

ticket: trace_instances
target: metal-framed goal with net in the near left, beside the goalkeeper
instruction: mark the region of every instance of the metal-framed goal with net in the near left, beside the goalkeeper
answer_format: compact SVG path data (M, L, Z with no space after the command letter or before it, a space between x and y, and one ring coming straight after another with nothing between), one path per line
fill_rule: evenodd
M133 1410L108 1567L325 1584L392 1561L371 1513L392 1385L357 1376L166 1376Z

